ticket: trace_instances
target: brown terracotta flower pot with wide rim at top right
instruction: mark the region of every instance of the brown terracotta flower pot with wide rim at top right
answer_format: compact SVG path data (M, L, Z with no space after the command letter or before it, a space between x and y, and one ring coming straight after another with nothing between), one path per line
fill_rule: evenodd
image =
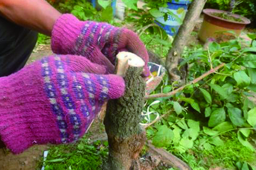
M221 39L221 41L229 40L234 37L234 33L236 33L236 36L239 36L242 29L245 28L245 25L250 24L250 20L241 15L231 14L233 18L240 19L241 22L223 19L213 15L213 13L228 13L226 11L205 9L203 13L204 21L199 31L199 39L204 42L209 37Z

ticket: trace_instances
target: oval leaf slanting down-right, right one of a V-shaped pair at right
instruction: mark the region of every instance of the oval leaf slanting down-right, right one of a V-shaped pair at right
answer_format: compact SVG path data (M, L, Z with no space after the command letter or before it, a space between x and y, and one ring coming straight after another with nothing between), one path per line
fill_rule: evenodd
M229 118L235 126L243 126L245 124L245 120L242 116L242 111L238 108L234 108L232 104L226 104L228 108Z

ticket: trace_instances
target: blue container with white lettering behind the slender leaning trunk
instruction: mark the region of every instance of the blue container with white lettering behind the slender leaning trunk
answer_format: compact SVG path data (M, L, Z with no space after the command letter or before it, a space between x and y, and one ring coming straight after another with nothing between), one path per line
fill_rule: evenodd
M179 16L181 20L185 18L185 15L188 10L188 5L191 3L189 0L179 0L176 2L172 0L171 2L167 3L168 7L160 7L159 10L163 12L172 12L173 14ZM168 35L174 36L180 28L181 23L177 21L177 19L168 14L167 20L164 20L164 16L156 18L156 24L162 27Z

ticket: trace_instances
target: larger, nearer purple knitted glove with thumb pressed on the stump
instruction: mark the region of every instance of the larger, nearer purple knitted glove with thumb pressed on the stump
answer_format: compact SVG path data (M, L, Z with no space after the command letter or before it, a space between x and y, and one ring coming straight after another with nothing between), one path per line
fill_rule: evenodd
M34 144L76 141L125 82L79 56L50 56L0 78L0 136L15 154Z

